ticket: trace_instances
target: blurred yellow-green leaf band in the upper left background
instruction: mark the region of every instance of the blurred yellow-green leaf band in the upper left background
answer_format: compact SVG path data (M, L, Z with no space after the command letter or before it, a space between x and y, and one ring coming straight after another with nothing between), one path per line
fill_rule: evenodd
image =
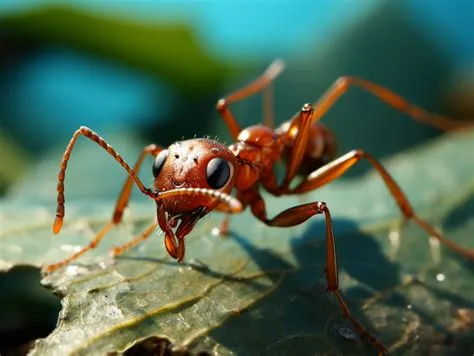
M210 56L183 23L146 23L51 5L4 15L0 28L12 41L64 45L140 68L194 96L215 90L238 68Z

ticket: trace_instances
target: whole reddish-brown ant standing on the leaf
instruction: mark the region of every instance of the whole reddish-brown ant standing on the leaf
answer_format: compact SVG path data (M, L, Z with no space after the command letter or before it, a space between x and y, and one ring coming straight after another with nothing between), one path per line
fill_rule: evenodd
M327 290L335 295L344 317L352 323L357 332L372 344L379 354L388 353L387 348L370 335L365 327L351 315L339 290L336 246L328 205L321 201L301 204L269 218L259 187L262 186L275 196L307 193L334 181L360 160L365 159L380 174L405 219L414 220L430 236L437 238L445 246L466 258L474 259L474 250L463 248L446 239L415 213L402 189L372 155L356 149L336 158L335 137L319 120L341 95L350 87L355 86L408 114L413 119L439 129L453 128L455 123L439 115L429 114L375 83L356 77L341 77L314 105L304 104L291 120L273 129L268 90L283 69L284 63L281 60L275 60L256 80L217 102L216 109L235 141L228 147L204 138L176 142L168 148L152 144L144 148L135 166L130 168L122 156L103 138L87 127L80 127L72 136L62 158L58 175L57 211L53 232L58 234L63 225L64 178L71 151L79 136L85 136L105 149L127 171L128 178L117 200L111 221L102 228L89 245L58 263L44 267L44 270L52 272L77 259L88 250L94 249L104 235L120 223L133 183L143 194L156 201L157 219L141 235L122 246L115 247L112 250L113 256L121 255L146 240L159 226L164 232L164 243L168 254L180 262L185 255L185 237L193 230L199 219L213 210L227 213L222 223L223 234L227 230L229 214L240 213L247 206L258 220L268 226L277 227L295 226L314 215L323 214L326 222ZM265 95L264 120L268 125L255 125L241 129L229 105L258 92L263 92ZM154 157L153 188L145 187L137 176L147 155ZM281 183L277 182L273 170L279 160L286 164L286 173ZM297 175L303 176L303 180L292 188L290 183ZM231 195L234 188L235 197Z

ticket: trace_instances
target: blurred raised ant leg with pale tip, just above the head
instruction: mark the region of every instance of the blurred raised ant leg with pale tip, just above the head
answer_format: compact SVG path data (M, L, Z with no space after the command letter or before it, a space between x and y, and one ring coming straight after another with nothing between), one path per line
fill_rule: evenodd
M260 77L258 77L245 87L227 95L226 97L220 99L217 102L216 109L221 115L224 122L226 123L234 141L237 140L237 136L239 136L239 133L242 131L242 129L240 128L239 124L235 120L234 115L230 111L229 105L262 91L268 85L270 85L276 77L278 77L278 75L283 71L283 69L283 61L275 60L273 61L273 63L270 64L267 70Z

